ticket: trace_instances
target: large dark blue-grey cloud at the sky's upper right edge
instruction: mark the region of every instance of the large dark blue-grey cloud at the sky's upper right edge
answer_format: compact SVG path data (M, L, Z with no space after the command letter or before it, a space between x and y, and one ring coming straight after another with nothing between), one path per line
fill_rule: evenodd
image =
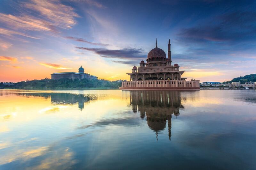
M183 41L195 43L251 41L256 38L255 22L255 11L227 12L204 24L183 28L178 36Z

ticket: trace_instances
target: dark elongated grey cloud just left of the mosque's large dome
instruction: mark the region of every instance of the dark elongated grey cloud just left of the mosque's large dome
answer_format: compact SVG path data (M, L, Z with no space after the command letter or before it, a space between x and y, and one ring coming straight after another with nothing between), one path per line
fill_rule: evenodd
M146 55L141 55L143 50L141 48L123 48L123 49L106 49L106 48L86 48L76 47L78 49L92 51L105 58L122 58L122 59L141 59L145 58Z

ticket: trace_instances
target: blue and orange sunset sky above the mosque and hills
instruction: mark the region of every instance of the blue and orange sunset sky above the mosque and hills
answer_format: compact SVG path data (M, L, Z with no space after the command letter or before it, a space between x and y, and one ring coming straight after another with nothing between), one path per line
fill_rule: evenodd
M129 79L157 47L183 77L228 81L256 73L256 1L1 0L0 81L54 72Z

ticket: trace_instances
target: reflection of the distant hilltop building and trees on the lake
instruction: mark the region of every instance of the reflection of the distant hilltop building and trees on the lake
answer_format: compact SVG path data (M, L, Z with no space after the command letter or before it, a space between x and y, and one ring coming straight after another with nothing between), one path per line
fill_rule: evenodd
M76 104L78 108L83 110L84 103L90 100L97 100L97 96L93 94L71 94L71 93L20 93L19 95L51 98L53 104Z

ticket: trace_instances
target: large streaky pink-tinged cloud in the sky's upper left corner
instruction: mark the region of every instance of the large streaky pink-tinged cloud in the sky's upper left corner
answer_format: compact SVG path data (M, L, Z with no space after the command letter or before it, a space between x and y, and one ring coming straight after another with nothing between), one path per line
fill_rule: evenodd
M79 17L72 7L61 4L59 0L31 0L20 3L17 8L21 11L20 16L0 13L0 23L4 26L0 28L1 34L36 38L28 35L28 31L56 33L57 27L69 29L76 25L75 18ZM25 14L28 13L28 10L23 11L25 8L30 10L31 15Z

